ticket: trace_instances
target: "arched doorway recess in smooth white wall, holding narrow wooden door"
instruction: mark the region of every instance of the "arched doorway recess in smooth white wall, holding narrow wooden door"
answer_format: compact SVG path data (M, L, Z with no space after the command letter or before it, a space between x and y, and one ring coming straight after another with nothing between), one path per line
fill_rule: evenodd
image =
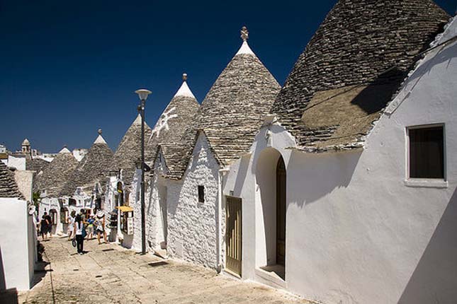
M286 279L286 164L274 148L256 163L256 268Z

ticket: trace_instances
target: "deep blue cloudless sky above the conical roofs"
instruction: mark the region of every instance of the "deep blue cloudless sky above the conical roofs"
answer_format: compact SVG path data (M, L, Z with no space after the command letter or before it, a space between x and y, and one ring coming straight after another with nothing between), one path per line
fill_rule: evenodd
M242 25L283 84L336 2L0 0L0 144L89 148L101 128L115 149L137 115L134 90L153 91L151 127L183 72L201 103ZM454 15L457 0L436 3Z

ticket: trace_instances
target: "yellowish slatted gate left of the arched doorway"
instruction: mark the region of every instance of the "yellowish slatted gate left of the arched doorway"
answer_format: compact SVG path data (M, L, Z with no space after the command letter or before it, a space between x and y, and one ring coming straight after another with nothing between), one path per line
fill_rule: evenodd
M225 267L234 274L241 276L241 241L242 241L242 223L241 223L241 202L237 197L226 197L225 208Z

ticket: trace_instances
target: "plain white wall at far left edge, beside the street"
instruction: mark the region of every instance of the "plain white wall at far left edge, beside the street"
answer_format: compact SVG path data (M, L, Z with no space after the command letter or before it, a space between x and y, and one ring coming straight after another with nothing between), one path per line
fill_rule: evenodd
M0 270L6 288L28 290L35 266L35 232L26 201L0 199Z

